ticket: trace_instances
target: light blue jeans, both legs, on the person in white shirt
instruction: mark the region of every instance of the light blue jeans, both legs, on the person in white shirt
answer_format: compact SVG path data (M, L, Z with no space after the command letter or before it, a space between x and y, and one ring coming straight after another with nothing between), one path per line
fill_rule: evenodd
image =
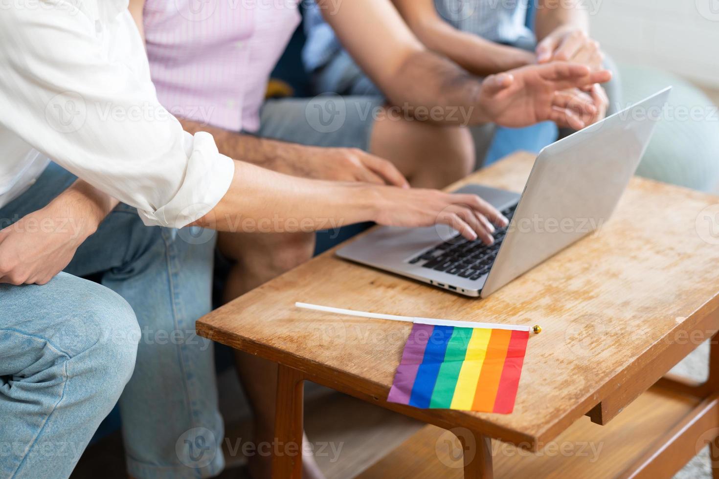
M51 164L0 226L74 180ZM213 348L195 334L213 251L214 234L148 227L119 205L52 281L0 285L0 477L68 477L118 398L129 474L221 471Z

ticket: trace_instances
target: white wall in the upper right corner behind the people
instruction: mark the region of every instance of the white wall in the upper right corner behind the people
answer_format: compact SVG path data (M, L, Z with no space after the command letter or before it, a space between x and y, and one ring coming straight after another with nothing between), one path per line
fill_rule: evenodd
M719 88L719 0L585 0L592 36L618 62Z

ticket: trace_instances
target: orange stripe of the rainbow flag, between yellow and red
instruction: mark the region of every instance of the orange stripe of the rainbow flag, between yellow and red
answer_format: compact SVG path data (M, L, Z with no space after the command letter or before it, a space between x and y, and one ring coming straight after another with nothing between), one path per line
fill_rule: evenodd
M510 330L492 330L485 361L482 363L480 380L477 381L477 391L475 392L475 401L472 403L472 411L493 411L511 338L512 332Z

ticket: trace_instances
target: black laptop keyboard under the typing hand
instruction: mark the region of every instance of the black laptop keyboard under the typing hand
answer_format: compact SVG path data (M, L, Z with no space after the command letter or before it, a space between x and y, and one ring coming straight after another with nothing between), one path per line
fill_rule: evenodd
M511 220L516 208L517 205L514 205L502 210L502 214ZM424 261L421 264L423 268L444 271L447 274L476 281L490 271L506 234L507 228L498 228L494 233L495 242L491 246L485 245L480 239L467 241L462 235L457 235L449 241L429 248L411 259L409 263L420 264Z

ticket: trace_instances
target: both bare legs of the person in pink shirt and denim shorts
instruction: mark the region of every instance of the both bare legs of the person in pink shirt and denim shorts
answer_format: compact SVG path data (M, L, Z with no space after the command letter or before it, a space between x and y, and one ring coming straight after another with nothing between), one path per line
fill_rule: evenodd
M468 175L475 164L467 129L420 121L378 120L372 129L370 149L372 154L395 163L415 187L444 187ZM225 256L237 261L224 290L224 300L229 302L308 261L314 236L221 233L218 246ZM255 441L272 442L278 366L242 352L237 352L236 360L240 380L255 411ZM253 477L270 478L271 459L258 455L250 458ZM302 466L303 477L323 477L311 455L303 457Z

